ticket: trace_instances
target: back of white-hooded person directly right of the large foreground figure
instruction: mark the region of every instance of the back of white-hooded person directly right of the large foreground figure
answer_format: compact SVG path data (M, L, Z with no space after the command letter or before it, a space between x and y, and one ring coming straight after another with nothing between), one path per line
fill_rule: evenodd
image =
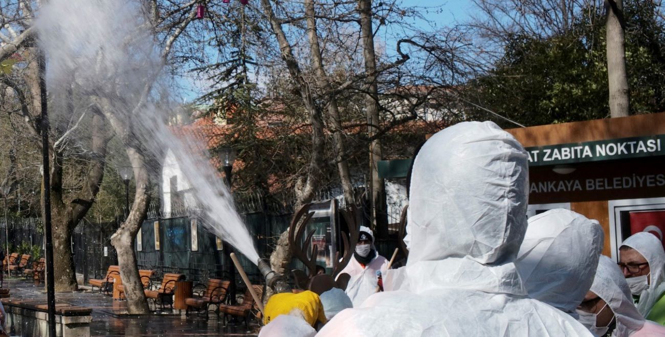
M515 260L529 297L577 318L575 309L591 288L603 239L598 222L569 210L529 218Z

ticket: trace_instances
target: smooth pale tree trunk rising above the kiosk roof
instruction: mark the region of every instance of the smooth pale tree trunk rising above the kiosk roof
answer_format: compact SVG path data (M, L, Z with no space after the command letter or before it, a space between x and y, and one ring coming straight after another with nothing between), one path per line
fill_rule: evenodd
M607 12L606 52L607 76L610 92L610 115L624 117L630 114L626 50L624 47L624 18L622 0L605 0Z

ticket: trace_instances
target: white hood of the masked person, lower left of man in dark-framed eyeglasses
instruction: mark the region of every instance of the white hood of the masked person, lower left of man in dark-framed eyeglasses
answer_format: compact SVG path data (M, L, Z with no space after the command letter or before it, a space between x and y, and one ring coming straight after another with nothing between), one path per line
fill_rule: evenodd
M630 336L644 326L644 317L632 304L632 294L626 278L609 257L600 256L591 291L614 312L616 328L612 336Z

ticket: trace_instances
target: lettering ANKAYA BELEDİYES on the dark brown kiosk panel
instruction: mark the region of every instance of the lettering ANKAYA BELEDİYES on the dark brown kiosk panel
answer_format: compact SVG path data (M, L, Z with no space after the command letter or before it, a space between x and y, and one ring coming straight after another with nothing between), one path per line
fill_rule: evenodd
M587 178L531 182L530 193L555 193L594 190L619 190L665 186L665 174L615 176L613 178Z

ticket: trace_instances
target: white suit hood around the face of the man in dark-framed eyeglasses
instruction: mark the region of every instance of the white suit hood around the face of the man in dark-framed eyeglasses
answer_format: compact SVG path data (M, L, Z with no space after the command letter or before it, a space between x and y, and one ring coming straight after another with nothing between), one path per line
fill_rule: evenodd
M631 247L644 256L651 269L649 287L642 291L637 303L637 310L648 317L654 303L665 292L665 251L658 237L648 232L640 232L628 237L621 245Z

